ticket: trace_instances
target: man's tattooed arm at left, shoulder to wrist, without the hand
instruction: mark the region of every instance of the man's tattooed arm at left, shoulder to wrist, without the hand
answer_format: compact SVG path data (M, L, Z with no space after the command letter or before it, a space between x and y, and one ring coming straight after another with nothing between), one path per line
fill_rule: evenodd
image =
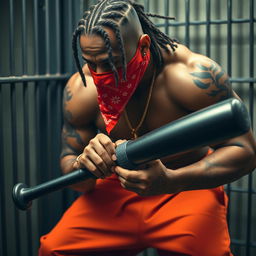
M62 151L60 156L61 170L64 174L79 169L76 158L84 150L90 139L95 137L96 129L90 124L90 115L88 117L81 115L79 112L83 109L77 109L74 106L79 105L76 94L81 88L77 82L77 76L71 77L63 92L63 116L64 125L62 128ZM78 112L79 111L79 112ZM78 118L78 116L81 116ZM81 119L88 119L83 121ZM96 180L87 179L80 183L70 186L72 189L80 192L86 192L94 188Z

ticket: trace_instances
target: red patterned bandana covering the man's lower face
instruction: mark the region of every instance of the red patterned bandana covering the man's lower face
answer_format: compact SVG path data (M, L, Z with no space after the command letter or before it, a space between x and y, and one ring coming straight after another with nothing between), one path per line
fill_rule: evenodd
M106 130L110 134L117 124L122 111L137 88L150 61L150 51L141 55L141 43L134 57L127 64L127 81L122 79L122 69L118 71L118 85L116 86L113 72L96 73L90 67L93 81L98 91L98 103Z

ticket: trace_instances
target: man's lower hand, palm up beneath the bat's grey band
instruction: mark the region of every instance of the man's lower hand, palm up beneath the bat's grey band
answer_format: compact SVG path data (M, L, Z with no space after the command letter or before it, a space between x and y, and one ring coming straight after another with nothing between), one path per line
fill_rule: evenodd
M115 173L121 186L141 196L177 193L181 191L175 171L167 169L160 160L145 164L140 170L116 166Z

